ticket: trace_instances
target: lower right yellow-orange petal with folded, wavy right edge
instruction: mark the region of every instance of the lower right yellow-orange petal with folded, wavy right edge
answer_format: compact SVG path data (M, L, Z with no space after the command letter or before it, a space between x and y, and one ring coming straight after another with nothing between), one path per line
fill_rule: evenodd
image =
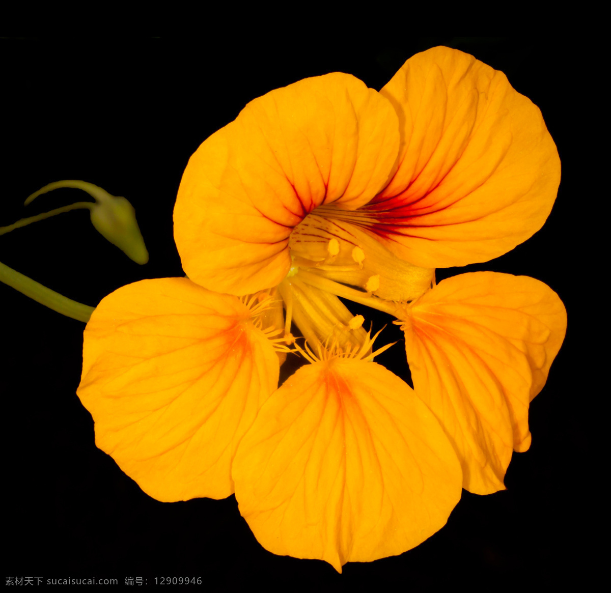
M421 297L403 327L415 392L452 440L464 488L504 489L512 449L530 446L529 402L565 336L562 301L527 276L461 274Z

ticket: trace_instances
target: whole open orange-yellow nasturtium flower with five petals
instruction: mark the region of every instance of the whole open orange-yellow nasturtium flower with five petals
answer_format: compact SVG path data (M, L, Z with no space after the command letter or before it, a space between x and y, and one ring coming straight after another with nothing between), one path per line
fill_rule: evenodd
M528 239L559 181L539 109L453 49L380 92L334 73L255 99L183 175L188 278L123 286L87 324L97 445L158 500L235 492L277 554L341 570L420 544L463 487L504 488L566 327L538 280L434 268ZM338 297L401 325L414 390ZM307 364L278 387L287 351Z

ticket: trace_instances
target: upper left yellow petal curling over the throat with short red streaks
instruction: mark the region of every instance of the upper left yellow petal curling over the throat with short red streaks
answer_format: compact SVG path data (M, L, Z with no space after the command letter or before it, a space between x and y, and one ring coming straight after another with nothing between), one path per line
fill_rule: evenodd
M398 147L392 105L353 76L308 78L251 101L186 167L174 210L186 274L232 294L278 285L293 227L322 203L369 202Z

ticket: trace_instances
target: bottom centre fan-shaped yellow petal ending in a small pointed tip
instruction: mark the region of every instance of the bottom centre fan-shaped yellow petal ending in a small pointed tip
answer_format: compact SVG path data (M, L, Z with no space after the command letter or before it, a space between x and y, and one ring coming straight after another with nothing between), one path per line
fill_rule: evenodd
M233 478L263 547L338 571L430 537L462 482L452 445L411 388L353 358L287 379L240 444Z

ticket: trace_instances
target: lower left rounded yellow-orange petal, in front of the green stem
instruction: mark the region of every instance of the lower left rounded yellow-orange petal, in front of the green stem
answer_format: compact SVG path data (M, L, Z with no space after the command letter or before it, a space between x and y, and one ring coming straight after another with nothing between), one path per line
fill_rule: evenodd
M98 447L148 495L224 498L235 449L278 373L240 299L161 278L123 286L93 311L78 395Z

